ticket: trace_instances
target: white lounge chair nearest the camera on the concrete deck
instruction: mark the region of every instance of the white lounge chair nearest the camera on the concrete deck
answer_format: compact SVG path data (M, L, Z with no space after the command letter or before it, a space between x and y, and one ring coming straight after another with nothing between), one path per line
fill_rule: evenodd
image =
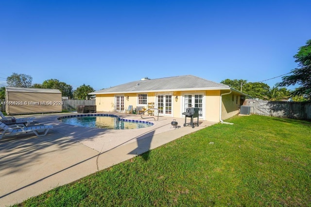
M53 126L52 125L37 125L33 127L22 127L18 125L7 126L6 124L0 122L0 129L3 130L0 131L2 133L0 139L2 139L4 135L16 135L27 132L34 132L37 137L42 137L47 135L50 128L53 128ZM42 134L39 134L40 132L42 132Z

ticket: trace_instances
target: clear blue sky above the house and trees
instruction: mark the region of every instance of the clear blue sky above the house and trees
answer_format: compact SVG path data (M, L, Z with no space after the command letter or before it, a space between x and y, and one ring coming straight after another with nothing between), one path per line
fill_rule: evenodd
M310 8L311 0L1 0L0 86L12 73L95 90L144 77L271 79L297 66Z

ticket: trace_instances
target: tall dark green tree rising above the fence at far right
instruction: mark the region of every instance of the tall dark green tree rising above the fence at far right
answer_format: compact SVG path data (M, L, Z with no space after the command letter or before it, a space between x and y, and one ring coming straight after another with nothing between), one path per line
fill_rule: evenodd
M289 76L282 77L282 82L277 86L289 86L299 84L300 86L292 93L294 96L305 96L311 100L311 39L305 46L298 49L294 55L298 68L291 70Z

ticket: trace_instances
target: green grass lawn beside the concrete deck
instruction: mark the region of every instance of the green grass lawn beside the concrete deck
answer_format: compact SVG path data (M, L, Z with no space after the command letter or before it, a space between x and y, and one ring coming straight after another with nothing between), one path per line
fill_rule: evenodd
M226 122L17 206L311 206L311 122Z

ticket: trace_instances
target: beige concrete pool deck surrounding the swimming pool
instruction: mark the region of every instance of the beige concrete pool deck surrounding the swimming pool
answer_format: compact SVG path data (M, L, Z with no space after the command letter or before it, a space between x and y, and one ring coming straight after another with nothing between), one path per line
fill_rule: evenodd
M57 120L72 114L77 113L35 115L35 122L53 125L44 137L27 133L0 140L0 207L20 203L215 124L200 120L199 127L183 127L184 118L159 117L154 121L153 116L141 119L136 114L112 112L107 114L155 125L111 130L75 127ZM173 119L178 128L171 125Z

